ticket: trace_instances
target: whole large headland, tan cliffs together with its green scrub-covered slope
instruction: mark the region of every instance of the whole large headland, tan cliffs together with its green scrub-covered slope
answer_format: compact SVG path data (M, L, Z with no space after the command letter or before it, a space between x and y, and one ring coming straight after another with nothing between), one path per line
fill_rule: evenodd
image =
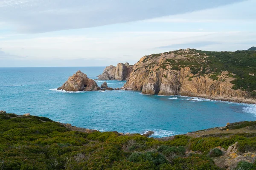
M143 94L256 97L256 51L170 51L142 57L124 88ZM255 100L254 102L255 103Z

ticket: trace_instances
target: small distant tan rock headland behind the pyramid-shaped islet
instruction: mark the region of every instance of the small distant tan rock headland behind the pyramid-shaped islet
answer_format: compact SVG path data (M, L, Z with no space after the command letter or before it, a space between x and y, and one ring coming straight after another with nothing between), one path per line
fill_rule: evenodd
M133 65L118 63L117 66L110 65L98 76L102 80L127 80L130 77Z

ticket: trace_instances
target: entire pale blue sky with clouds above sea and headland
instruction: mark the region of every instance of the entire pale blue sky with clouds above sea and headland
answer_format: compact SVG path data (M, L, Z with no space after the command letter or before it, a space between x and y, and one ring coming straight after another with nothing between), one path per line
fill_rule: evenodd
M256 46L256 0L0 0L0 67L108 66Z

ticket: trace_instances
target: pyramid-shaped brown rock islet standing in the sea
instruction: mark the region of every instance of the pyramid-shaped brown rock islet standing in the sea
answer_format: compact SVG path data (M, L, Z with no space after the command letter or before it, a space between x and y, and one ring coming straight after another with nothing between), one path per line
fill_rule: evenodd
M98 91L100 87L93 79L89 79L86 74L77 71L76 74L69 77L58 90L65 91Z

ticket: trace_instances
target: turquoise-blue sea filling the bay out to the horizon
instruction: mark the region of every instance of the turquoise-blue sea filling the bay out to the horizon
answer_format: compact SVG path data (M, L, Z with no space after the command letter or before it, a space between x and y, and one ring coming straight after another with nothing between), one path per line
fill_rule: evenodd
M144 133L153 130L153 137L256 120L256 105L142 95L137 91L56 91L78 70L96 79L104 67L0 68L0 110L45 116L101 131ZM120 88L125 83L107 82L112 88ZM103 81L97 83L101 85Z

